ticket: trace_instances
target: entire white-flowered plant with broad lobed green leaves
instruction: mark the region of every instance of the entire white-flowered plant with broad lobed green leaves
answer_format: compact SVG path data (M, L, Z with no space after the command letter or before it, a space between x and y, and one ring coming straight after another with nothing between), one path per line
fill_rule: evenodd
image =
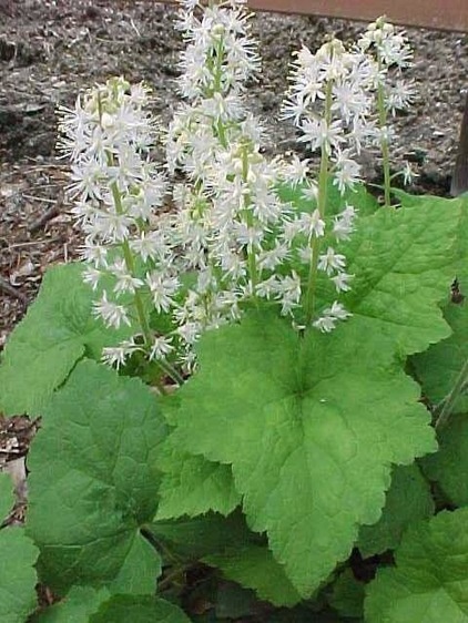
M303 48L282 115L308 157L268 160L248 18L184 3L166 130L122 78L61 111L84 245L0 367L1 408L43 418L11 621L34 607L38 553L67 600L37 621L212 621L226 585L248 615L246 589L269 602L268 621L417 623L466 601L435 599L468 582L452 539L468 521L466 202L391 188L408 42L380 18L354 47ZM380 150L384 205L364 147Z

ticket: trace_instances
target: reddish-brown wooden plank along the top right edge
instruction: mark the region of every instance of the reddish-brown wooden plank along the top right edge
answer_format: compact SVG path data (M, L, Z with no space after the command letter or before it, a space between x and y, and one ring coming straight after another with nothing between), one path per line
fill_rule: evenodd
M468 0L248 0L252 9L468 32Z

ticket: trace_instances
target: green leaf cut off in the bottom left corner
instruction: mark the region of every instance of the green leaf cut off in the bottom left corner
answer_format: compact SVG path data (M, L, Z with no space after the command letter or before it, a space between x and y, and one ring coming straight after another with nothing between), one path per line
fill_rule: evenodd
M24 534L23 528L0 531L0 620L24 623L37 606L38 583L33 564L39 550Z

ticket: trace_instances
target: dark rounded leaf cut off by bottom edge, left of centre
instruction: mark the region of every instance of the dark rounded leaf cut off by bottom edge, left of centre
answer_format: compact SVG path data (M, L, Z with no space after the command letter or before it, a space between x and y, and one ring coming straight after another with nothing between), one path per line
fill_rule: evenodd
M176 605L152 596L115 595L101 605L90 623L190 623Z

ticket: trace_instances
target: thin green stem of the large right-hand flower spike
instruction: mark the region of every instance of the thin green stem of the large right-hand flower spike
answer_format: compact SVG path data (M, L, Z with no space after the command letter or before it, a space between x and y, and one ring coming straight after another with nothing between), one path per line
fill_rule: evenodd
M332 89L333 82L327 83L326 99L325 99L325 121L327 126L332 122ZM329 168L329 153L328 149L322 147L321 154L321 171L318 174L318 196L317 196L317 208L321 214L321 218L325 219L325 211L327 204L327 191L328 191L328 171ZM318 275L318 256L321 253L322 239L318 236L312 236L311 239L311 267L308 270L307 278L307 293L306 293L306 326L308 326L314 317L315 313L315 289L317 286L317 275Z

